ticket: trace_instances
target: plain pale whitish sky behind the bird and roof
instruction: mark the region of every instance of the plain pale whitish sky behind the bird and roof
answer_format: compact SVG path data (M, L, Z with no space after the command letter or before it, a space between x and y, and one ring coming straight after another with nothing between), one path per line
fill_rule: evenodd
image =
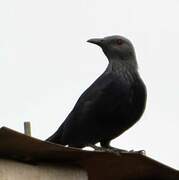
M148 89L141 120L112 142L179 169L179 1L1 0L0 126L45 139L107 59L93 37L132 40Z

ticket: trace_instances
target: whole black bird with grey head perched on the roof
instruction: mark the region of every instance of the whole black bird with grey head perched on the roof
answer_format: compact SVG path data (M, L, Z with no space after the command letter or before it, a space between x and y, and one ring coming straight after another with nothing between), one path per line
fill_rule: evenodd
M110 141L134 125L144 112L146 87L139 76L132 43L122 36L90 39L109 64L80 96L73 110L47 141L83 148L112 148Z

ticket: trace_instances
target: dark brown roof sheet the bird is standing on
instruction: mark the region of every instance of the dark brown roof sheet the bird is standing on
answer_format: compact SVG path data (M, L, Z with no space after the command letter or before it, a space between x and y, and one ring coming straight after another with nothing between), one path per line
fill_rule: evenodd
M179 171L140 154L85 151L67 148L0 128L0 158L26 163L68 163L81 166L89 180L179 180Z

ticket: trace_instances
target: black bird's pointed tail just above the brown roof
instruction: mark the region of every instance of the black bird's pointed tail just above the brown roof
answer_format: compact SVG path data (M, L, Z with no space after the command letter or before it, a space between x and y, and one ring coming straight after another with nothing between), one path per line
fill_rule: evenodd
M45 141L65 145L65 143L62 142L63 126L64 124L62 124L59 129Z

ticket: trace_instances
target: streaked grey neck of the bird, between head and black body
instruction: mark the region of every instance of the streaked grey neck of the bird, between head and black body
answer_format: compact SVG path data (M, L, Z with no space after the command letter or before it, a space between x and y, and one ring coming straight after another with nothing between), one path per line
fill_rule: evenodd
M137 61L133 59L109 59L109 64L106 69L107 72L121 73L125 71L137 72Z

